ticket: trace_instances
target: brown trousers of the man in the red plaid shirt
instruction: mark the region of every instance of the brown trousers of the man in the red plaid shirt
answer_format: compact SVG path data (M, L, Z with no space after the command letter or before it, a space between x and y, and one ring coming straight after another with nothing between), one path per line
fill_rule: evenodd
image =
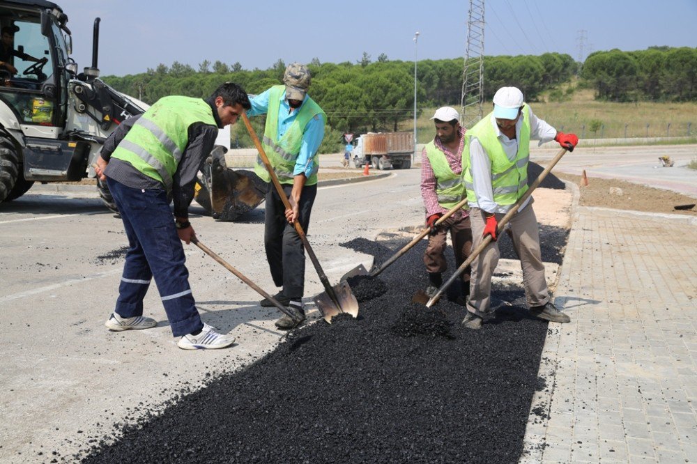
M455 254L455 265L459 268L464 263L472 250L472 229L470 218L453 219L448 217L443 224L429 234L429 244L424 252L424 264L427 272L443 272L447 270L445 261L445 245L447 233L450 232L450 242ZM470 266L461 274L462 281L470 281Z

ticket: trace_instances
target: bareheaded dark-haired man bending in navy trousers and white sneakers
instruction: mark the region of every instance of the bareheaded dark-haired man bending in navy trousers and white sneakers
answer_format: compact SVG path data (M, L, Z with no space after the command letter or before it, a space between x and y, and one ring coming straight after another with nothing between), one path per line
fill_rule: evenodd
M197 173L213 150L218 129L250 108L247 93L228 82L203 100L160 98L144 114L128 118L102 147L95 165L123 220L128 252L109 330L148 329L143 299L154 278L177 345L185 350L234 343L201 321L189 285L184 249L195 237L188 208ZM169 208L174 200L174 217Z

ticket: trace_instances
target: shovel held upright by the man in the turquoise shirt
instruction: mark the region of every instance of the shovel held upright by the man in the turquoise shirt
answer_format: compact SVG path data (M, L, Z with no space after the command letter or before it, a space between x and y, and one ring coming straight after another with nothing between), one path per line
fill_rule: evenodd
M283 192L283 187L281 187L281 184L278 182L276 173L273 171L273 167L271 167L271 163L268 161L268 157L261 146L259 137L256 137L256 132L254 132L254 128L250 123L250 118L248 118L247 114L244 112L242 113L242 120L245 121L247 131L250 133L250 137L252 137L252 140L254 141L256 150L259 151L259 156L261 157L264 166L266 166L269 176L271 176L271 181L273 182L278 196L280 196L282 199L286 210L291 209L291 204L289 203L285 192ZM319 275L319 279L322 281L322 285L324 286L325 291L314 297L314 304L316 304L317 309L319 309L319 312L322 314L324 320L326 320L328 323L332 323L332 318L337 314L342 313L351 314L351 316L354 318L358 317L358 300L355 299L355 295L353 295L351 287L348 286L346 281L339 282L339 284L332 287L332 285L329 283L329 279L322 270L322 266L317 260L317 256L315 256L314 252L312 251L312 247L310 247L309 242L307 241L307 236L305 235L305 231L302 230L300 222L293 222L293 226L295 226L296 232L298 233L300 240L302 240L302 245L305 246L305 251L307 251L307 255L312 261L312 264Z

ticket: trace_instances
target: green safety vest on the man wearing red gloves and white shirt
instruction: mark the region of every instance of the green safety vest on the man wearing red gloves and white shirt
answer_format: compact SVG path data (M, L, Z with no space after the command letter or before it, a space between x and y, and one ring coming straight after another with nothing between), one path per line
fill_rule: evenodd
M513 161L508 160L501 142L496 137L496 129L491 123L493 113L484 116L482 121L475 124L465 134L465 148L469 159L469 146L472 137L477 137L484 148L484 152L491 160L491 187L493 187L493 201L506 208L514 204L528 190L528 160L530 160L530 108L523 105L523 125L521 127L518 153ZM468 164L465 172L465 187L467 199L472 204L477 204L472 169ZM510 208L508 208L510 209Z

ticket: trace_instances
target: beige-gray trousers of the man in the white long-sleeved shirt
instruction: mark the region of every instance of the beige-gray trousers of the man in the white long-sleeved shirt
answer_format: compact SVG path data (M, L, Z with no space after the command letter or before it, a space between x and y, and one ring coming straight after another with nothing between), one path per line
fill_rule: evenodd
M503 214L497 214L496 220L500 221ZM487 219L479 208L470 209L470 223L472 225L473 249L476 249L482 240L484 226ZM533 210L533 202L530 201L522 211L514 215L508 226L511 231L513 247L521 260L523 269L523 287L525 288L528 307L543 306L549 301L547 281L544 279L544 265L539 251L539 231L537 229L537 217ZM499 233L500 237L501 233ZM496 270L500 252L498 242L490 242L482 250L472 263L472 275L470 279L470 297L467 300L467 310L477 316L486 316L490 312L491 304L491 275Z

